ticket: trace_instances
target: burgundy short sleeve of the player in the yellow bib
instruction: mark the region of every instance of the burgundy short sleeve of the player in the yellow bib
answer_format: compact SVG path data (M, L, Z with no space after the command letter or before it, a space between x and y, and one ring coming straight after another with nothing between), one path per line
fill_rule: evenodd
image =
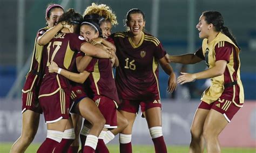
M225 60L230 62L230 55L232 53L233 47L234 46L227 41L220 41L215 46L215 61Z

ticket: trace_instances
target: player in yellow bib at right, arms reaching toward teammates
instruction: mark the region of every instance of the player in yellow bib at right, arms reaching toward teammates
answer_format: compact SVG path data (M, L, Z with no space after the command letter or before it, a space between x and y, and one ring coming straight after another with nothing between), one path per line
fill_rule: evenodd
M202 46L196 53L170 56L171 62L195 64L205 60L209 67L198 73L181 73L178 83L211 78L194 115L191 126L190 152L220 152L218 136L244 103L244 89L240 79L240 48L224 26L224 19L217 11L205 11L196 28Z

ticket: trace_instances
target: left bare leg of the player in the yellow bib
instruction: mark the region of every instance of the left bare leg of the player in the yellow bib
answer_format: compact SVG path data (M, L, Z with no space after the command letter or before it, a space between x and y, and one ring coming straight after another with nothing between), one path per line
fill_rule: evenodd
M191 126L191 142L190 142L190 153L204 152L204 137L203 129L205 119L210 110L198 108Z

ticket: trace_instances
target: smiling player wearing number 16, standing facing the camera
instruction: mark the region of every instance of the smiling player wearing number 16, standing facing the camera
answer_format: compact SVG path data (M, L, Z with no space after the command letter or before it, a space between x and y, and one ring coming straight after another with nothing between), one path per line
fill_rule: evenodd
M110 36L119 59L116 70L116 86L121 102L119 110L129 122L119 134L120 152L132 152L132 126L139 106L146 117L156 152L167 152L161 128L158 62L170 75L168 91L176 88L176 77L165 59L166 52L159 40L143 31L144 13L139 9L129 10L126 25L129 31Z

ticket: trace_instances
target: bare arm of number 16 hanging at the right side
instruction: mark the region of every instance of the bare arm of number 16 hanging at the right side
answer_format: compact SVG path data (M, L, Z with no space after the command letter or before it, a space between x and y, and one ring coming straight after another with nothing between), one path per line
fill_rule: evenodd
M169 63L165 59L165 57L163 57L159 60L159 64L164 69L164 72L170 76L169 79L168 79L167 91L168 92L173 92L174 90L176 90L176 87L177 87L176 75L173 72L173 69L172 69L171 65L169 65Z

